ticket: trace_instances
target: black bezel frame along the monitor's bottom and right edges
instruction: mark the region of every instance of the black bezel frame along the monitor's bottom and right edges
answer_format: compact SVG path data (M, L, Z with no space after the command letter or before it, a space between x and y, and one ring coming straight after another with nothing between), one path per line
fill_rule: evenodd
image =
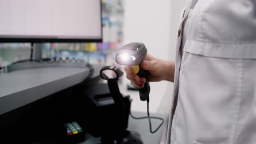
M95 39L55 39L55 38L1 38L0 43L102 43L102 1L100 1L101 38Z

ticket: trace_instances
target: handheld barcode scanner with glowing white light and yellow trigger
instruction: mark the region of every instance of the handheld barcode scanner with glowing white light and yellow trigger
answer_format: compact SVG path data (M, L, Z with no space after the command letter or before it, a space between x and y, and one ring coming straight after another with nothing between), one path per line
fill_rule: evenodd
M139 97L143 101L149 101L150 86L147 71L142 69L139 64L146 57L147 52L148 50L143 43L130 43L124 45L115 54L115 62L120 65L131 65L133 74L137 74L139 77L144 77L146 79L144 87L139 89Z

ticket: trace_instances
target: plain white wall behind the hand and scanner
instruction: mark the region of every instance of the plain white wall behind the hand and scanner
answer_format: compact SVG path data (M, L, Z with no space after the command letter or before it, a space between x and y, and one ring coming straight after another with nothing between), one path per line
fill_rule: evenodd
M177 29L184 1L124 0L124 44L144 43L151 55L174 61ZM150 82L150 87L150 112L169 112L173 84L167 81ZM132 111L146 112L146 102L139 100L138 92L127 94L133 98Z

